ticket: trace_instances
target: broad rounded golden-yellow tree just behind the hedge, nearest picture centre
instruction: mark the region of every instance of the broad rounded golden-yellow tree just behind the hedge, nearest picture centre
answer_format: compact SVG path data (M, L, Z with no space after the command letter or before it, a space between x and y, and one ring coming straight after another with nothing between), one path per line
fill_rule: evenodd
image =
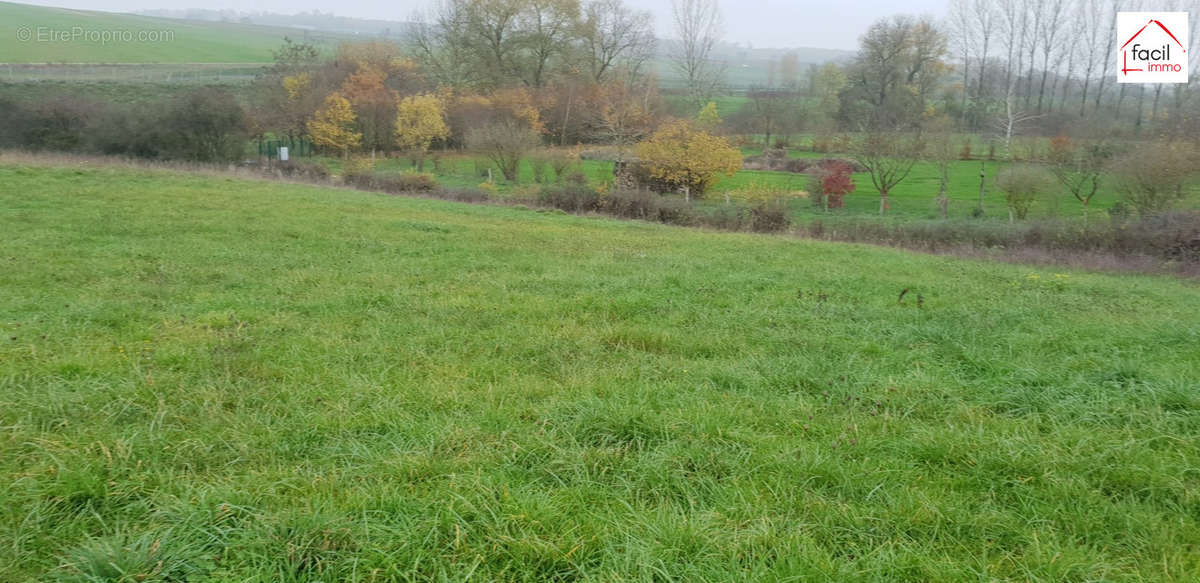
M703 196L720 174L732 176L742 169L740 151L686 121L664 124L637 145L637 157L652 178L686 199Z

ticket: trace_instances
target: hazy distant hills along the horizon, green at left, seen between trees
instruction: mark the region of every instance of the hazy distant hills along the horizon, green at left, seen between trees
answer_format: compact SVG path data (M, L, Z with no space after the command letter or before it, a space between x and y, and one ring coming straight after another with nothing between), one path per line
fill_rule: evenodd
M0 62L256 64L269 62L284 36L331 49L348 40L403 42L412 26L408 22L322 12L275 14L190 8L121 14L0 2ZM89 38L104 32L125 38L107 42ZM49 38L53 35L70 37ZM143 40L145 35L150 38ZM653 61L668 88L677 80L668 60L673 46L672 41L660 41L659 55ZM836 49L749 48L721 43L713 56L725 64L730 85L746 88L766 84L770 62L787 53L794 53L802 67L845 60L851 55Z

